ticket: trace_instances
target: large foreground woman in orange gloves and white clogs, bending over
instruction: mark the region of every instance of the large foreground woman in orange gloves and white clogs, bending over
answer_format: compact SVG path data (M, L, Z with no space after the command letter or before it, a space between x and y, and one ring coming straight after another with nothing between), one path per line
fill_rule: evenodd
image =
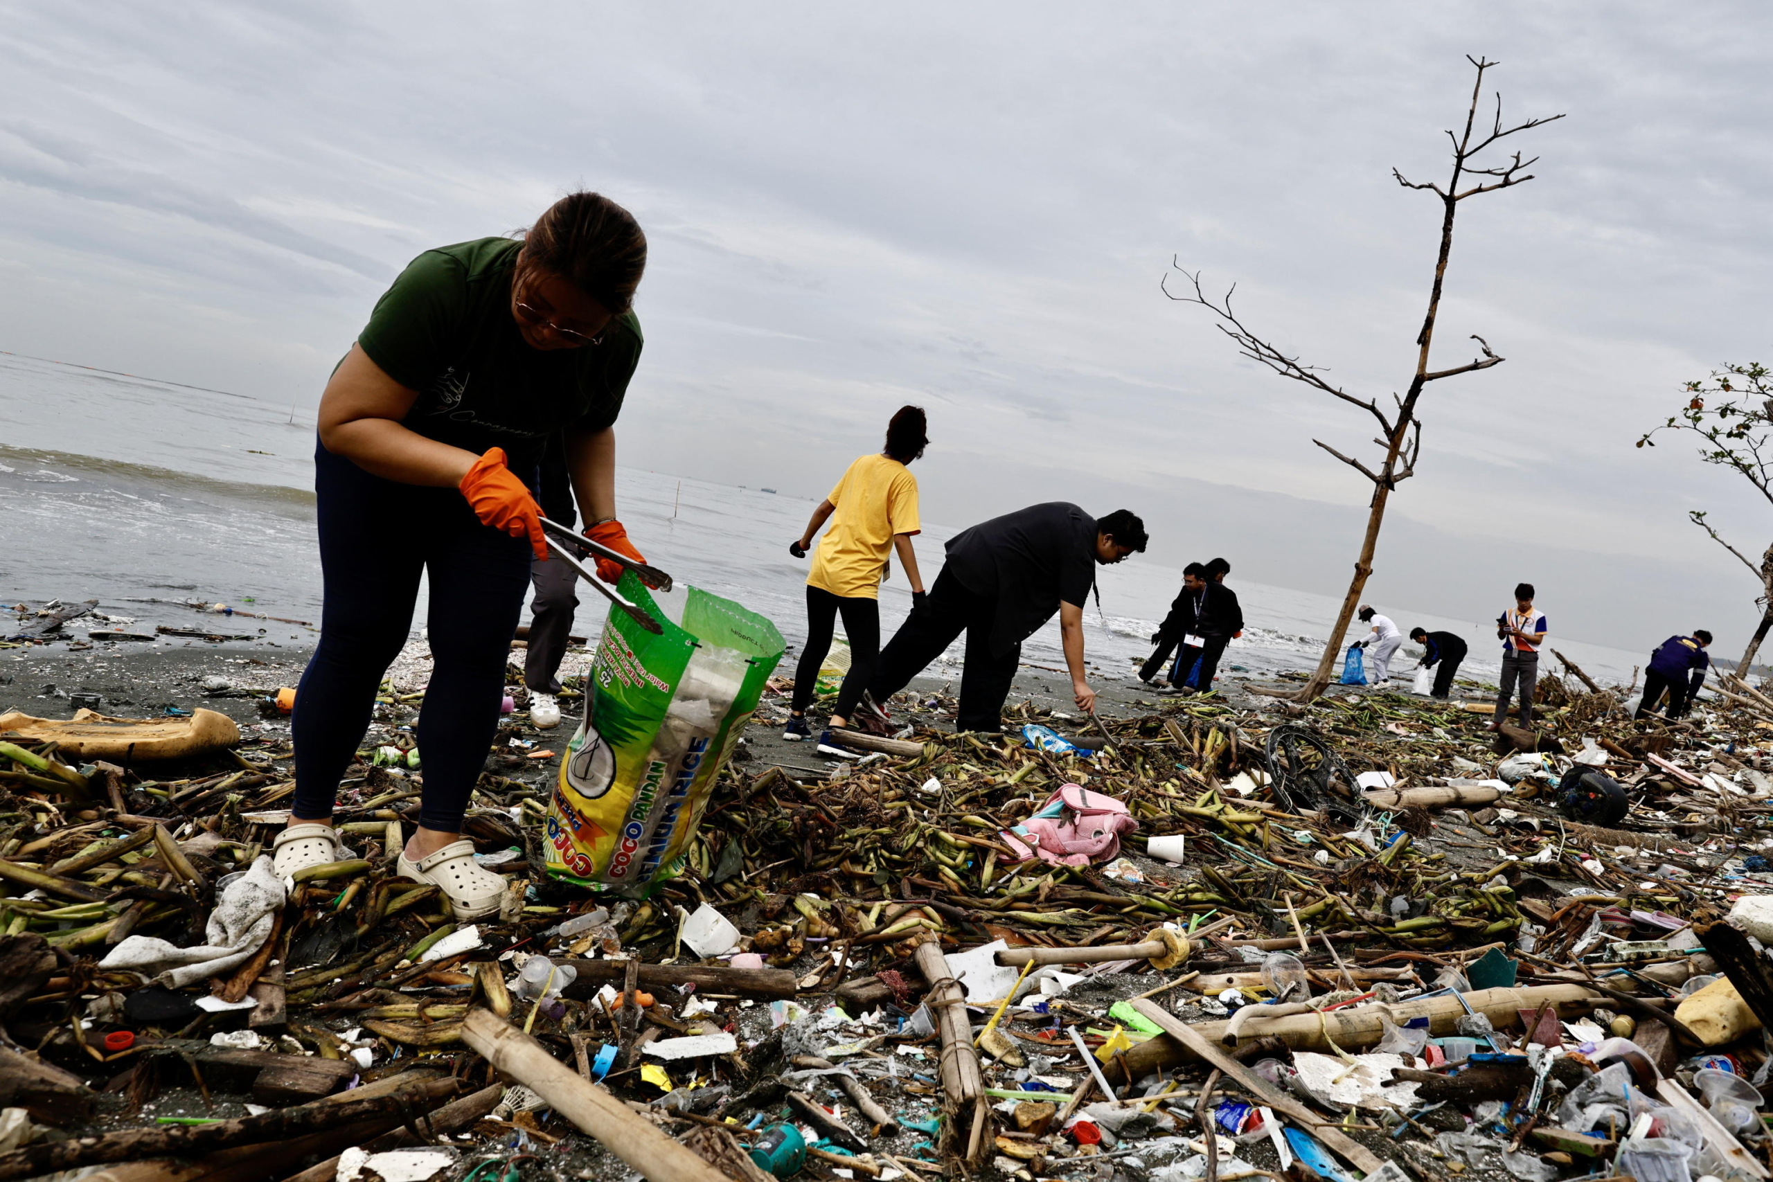
M339 861L339 778L429 581L431 684L418 714L424 796L399 874L468 920L504 881L461 838L498 730L505 659L548 556L534 478L564 432L585 533L638 558L615 517L615 416L640 360L631 312L647 239L598 193L555 202L518 241L427 250L376 301L321 395L314 489L324 604L296 691L296 794L278 877ZM599 578L621 565L601 560Z

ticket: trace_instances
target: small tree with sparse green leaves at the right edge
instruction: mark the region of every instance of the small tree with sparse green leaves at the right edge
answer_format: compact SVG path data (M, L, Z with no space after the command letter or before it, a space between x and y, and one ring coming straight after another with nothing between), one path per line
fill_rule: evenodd
M1773 372L1759 362L1746 365L1727 363L1683 386L1686 406L1668 416L1661 427L1645 431L1636 447L1656 447L1660 431L1686 431L1697 434L1704 443L1699 459L1706 464L1729 468L1748 484L1755 486L1761 496L1773 503ZM1688 519L1711 535L1718 546L1736 555L1736 560L1748 567L1761 585L1755 606L1761 608L1761 624L1755 627L1743 659L1736 666L1738 677L1748 677L1748 666L1761 650L1761 642L1773 631L1773 546L1761 555L1761 565L1743 556L1706 521L1704 510L1688 510Z

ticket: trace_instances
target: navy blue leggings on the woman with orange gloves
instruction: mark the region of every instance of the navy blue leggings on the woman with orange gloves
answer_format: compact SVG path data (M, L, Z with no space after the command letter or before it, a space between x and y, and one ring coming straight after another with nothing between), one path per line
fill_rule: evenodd
M330 817L369 728L376 689L413 626L429 574L431 686L418 712L418 824L459 833L498 732L505 659L530 587L530 544L480 525L456 489L372 477L314 452L321 540L321 643L301 673L291 732L294 815Z

